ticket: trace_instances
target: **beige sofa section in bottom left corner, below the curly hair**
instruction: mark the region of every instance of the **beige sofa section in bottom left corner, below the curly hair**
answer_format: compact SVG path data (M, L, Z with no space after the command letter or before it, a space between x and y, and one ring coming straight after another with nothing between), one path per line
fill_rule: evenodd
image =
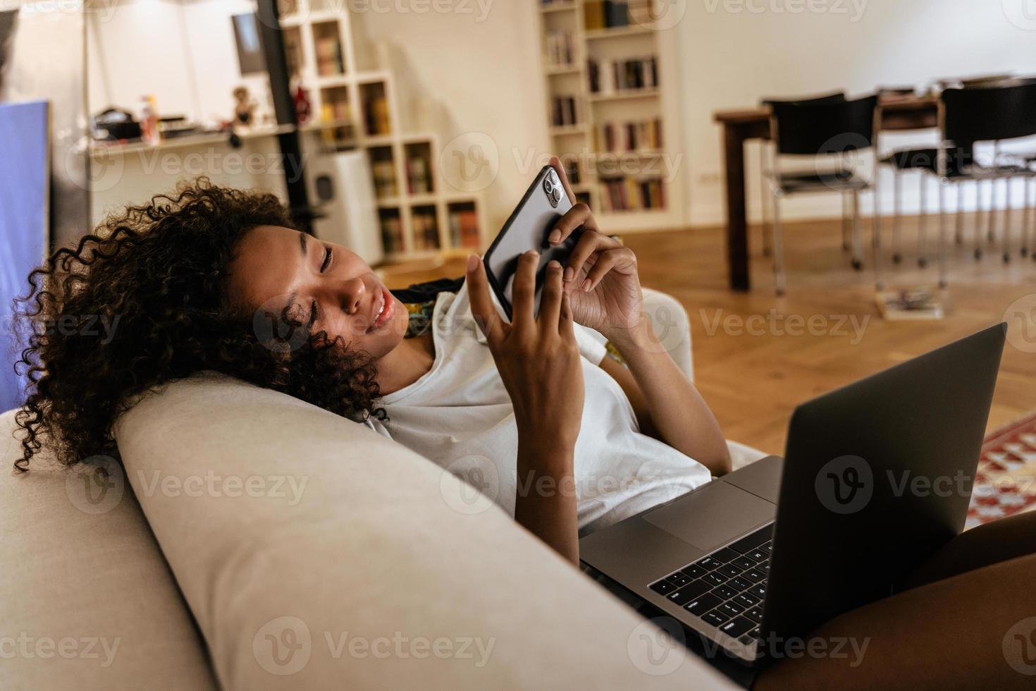
M214 689L198 631L118 465L15 473L0 415L0 689Z

